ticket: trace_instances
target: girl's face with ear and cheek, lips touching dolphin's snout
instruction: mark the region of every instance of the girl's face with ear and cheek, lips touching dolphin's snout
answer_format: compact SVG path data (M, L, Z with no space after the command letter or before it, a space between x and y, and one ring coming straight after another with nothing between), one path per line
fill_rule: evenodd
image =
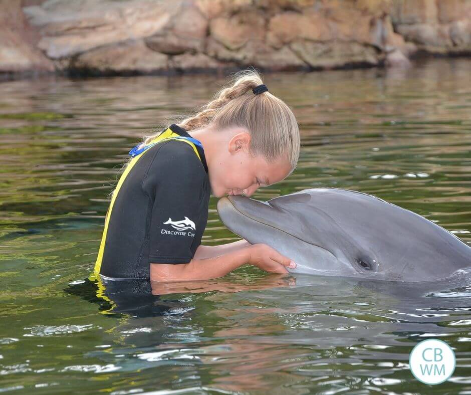
M240 133L231 138L227 150L221 150L209 168L209 182L216 198L225 195L251 196L260 186L281 181L290 173L287 160L269 163L262 155L249 151L250 135Z

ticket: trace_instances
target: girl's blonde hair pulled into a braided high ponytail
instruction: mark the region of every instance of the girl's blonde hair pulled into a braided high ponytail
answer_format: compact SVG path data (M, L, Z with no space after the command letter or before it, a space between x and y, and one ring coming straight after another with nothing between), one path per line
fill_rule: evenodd
M286 158L291 173L298 163L301 145L298 122L283 100L270 92L256 95L252 91L261 84L262 78L255 69L234 73L230 83L201 111L179 120L177 125L187 131L206 126L215 130L244 127L252 137L252 154L262 154L269 163ZM154 137L147 137L146 142Z

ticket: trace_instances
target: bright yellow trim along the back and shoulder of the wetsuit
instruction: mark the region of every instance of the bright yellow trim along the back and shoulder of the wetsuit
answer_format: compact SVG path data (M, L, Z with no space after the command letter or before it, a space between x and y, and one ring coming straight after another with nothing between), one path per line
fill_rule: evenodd
M164 132L160 133L158 136L156 136L155 138L150 140L148 144L154 144L156 142L160 143L160 142L162 142L164 140L167 140L167 139L179 140L178 137L181 137L181 136L179 134L175 133L172 129L167 128ZM196 149L196 145L194 143L192 143L191 141L185 140L185 139L181 139L179 141L184 141L185 143L191 145L191 147L193 148L193 151L196 153L196 156L198 156L198 159L201 160L201 157L199 156L198 150ZM121 186L123 185L124 180L126 179L127 175L131 171L131 169L137 163L139 158L141 158L142 155L144 155L147 151L149 151L149 150L146 149L145 151L141 152L139 155L133 157L129 161L128 165L126 166L126 169L124 170L123 174L119 178L119 181L118 181L118 184L116 185L115 190L113 191L113 194L111 196L110 207L108 208L108 212L106 213L106 217L105 217L105 228L103 229L103 236L101 238L100 249L98 250L98 257L97 257L97 260L95 262L95 267L93 269L93 274L91 275L90 280L92 280L93 277L97 278L98 275L100 274L101 263L103 261L103 254L105 252L106 234L108 232L108 225L110 223L111 211L113 210L113 206L114 206L114 202L116 200L116 196L118 195L118 192L119 192Z

